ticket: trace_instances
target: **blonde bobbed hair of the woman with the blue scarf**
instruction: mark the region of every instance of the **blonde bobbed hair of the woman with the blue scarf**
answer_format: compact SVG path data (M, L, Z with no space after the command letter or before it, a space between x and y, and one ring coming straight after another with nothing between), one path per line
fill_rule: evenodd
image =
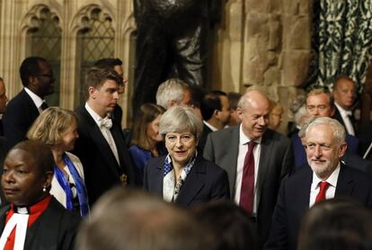
M51 107L41 112L31 129L27 132L27 138L39 140L49 146L58 144L62 134L68 129L72 122L77 124L75 112Z

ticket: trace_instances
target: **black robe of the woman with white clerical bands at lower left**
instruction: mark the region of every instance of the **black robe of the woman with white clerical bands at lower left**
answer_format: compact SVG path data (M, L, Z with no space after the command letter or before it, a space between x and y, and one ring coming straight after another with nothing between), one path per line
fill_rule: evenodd
M10 205L0 212L0 235L5 227L6 211ZM80 217L66 210L55 198L49 202L48 208L27 229L24 249L70 250L75 246L75 235Z

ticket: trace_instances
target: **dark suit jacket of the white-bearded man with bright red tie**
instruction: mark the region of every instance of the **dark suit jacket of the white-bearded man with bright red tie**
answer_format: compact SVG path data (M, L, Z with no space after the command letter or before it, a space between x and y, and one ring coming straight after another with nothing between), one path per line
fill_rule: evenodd
M272 218L265 249L297 249L298 231L309 209L313 171L303 167L280 186L278 203ZM348 196L372 208L372 177L341 164L335 197Z

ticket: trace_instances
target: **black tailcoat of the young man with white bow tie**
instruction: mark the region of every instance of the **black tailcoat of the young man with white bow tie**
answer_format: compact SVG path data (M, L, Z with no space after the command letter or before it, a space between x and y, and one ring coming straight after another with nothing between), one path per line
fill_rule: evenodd
M111 135L118 149L120 165L84 104L75 112L79 117L79 138L75 142L74 154L82 161L89 204L92 205L103 192L120 184L120 174L128 175L128 184L134 183L134 170L117 122L112 122Z

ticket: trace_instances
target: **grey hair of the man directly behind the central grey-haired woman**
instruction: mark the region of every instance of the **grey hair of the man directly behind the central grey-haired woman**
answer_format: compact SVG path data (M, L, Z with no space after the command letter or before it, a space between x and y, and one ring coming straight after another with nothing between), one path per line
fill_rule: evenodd
M175 101L181 103L183 94L189 89L189 85L178 78L171 78L159 85L156 91L156 104L167 109L168 103Z

